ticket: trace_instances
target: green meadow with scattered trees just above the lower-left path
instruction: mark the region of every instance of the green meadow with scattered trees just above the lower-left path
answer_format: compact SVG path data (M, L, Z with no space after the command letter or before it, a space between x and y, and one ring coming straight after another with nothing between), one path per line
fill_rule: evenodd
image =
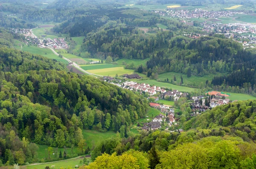
M47 149L49 146L47 145L40 145L40 144L37 144L39 149L38 149L38 152L37 152L37 158L38 158L38 161L42 161L45 159L45 149ZM55 149L55 147L52 147L53 149ZM59 152L64 152L64 148L58 148L58 153ZM74 147L73 149L73 154L77 155L78 153L80 152L79 149L77 149L77 147ZM67 148L67 155L68 156L71 156L71 148ZM51 158L54 158L53 155L51 156ZM56 160L58 160L58 157L56 158Z

